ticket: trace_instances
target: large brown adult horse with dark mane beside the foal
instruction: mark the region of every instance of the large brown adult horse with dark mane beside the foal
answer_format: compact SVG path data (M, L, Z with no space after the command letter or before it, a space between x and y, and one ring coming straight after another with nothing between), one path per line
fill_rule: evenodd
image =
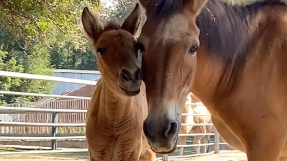
M150 110L144 132L152 149L174 151L191 88L224 140L249 161L286 160L286 0L140 1Z

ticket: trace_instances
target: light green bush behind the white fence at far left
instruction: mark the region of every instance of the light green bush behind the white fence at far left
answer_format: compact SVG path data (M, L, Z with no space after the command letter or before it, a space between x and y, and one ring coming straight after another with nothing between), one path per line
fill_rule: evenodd
M38 50L37 53L33 52L31 55L24 58L21 63L18 63L11 55L19 53L14 52L13 54L9 54L7 51L3 51L3 47L0 48L0 70L52 75L53 72L49 68L49 53L43 51L43 48L41 49L41 47L36 47L36 49ZM8 56L10 57L9 59L7 59ZM3 91L51 93L52 87L53 83L47 81L0 77L0 90ZM2 95L0 96L0 104L36 101L37 99L40 98Z

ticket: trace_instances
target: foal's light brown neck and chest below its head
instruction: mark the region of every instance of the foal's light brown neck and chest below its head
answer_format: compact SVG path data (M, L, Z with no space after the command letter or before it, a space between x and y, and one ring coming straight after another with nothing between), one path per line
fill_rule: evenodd
M138 95L128 97L112 93L100 79L86 120L86 137L91 160L128 161L155 158L142 130L147 115L144 83Z

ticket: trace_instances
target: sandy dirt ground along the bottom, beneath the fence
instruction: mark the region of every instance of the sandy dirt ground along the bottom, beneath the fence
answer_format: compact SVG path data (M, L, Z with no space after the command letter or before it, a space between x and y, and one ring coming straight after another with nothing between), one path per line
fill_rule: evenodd
M0 161L88 161L86 153L65 153L65 154L19 154L0 155ZM169 159L174 160L174 159ZM220 152L207 156L197 156L180 159L181 161L247 161L246 155L238 151Z

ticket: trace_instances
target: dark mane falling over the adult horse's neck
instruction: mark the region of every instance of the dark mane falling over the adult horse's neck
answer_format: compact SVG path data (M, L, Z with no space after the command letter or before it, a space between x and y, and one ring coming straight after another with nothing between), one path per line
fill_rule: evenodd
M234 57L244 57L251 39L248 35L250 21L267 5L282 5L279 0L265 0L244 7L232 6L218 0L208 0L197 25L200 41L208 52L230 62Z

